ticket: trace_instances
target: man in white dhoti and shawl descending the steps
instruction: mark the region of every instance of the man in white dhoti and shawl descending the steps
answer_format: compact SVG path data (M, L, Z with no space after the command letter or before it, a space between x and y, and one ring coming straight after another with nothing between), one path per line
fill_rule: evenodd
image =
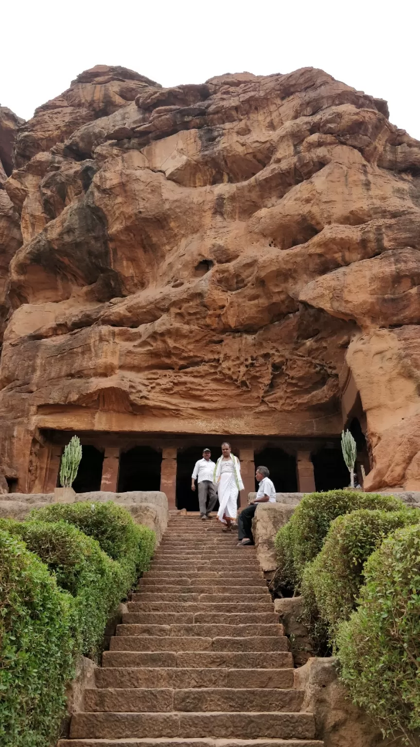
M232 522L238 513L238 492L244 490L244 483L239 459L231 453L227 441L222 444L222 456L217 459L213 482L217 484L219 496L217 518L222 524L226 524L223 532L232 532Z

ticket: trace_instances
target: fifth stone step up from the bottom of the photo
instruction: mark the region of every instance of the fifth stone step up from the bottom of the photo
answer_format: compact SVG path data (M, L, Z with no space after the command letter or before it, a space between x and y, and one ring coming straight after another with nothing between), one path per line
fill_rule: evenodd
M103 667L167 669L285 669L293 666L289 651L104 651Z

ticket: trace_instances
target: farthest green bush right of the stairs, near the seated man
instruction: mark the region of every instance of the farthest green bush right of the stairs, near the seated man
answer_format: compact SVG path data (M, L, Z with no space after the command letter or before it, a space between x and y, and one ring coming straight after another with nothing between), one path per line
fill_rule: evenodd
M330 490L304 495L288 524L277 533L277 584L285 589L300 586L306 563L318 555L331 521L337 516L356 509L398 511L403 507L404 503L392 495L361 491Z

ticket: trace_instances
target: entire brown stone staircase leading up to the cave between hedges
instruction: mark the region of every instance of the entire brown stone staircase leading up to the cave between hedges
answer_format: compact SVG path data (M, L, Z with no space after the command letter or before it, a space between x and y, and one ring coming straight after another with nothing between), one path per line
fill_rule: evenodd
M322 747L254 548L170 519L58 747Z

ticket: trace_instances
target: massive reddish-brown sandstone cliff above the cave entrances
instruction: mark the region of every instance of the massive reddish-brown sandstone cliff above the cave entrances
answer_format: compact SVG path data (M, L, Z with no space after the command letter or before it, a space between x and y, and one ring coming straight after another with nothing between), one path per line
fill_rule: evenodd
M31 489L39 429L337 436L349 366L366 486L419 489L419 175L318 69L79 75L0 190L4 474Z

